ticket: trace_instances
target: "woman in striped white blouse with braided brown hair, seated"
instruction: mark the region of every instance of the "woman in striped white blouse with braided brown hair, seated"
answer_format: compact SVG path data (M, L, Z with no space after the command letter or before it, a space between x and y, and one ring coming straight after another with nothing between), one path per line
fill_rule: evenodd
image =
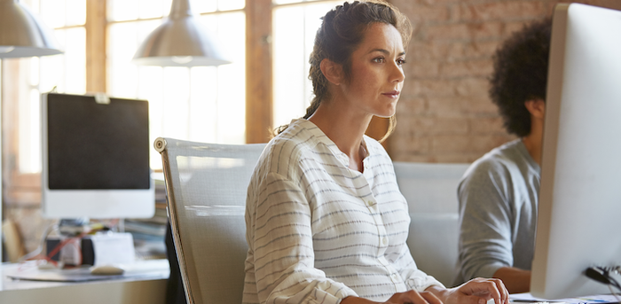
M508 302L499 280L446 289L417 269L392 161L364 135L373 115L395 114L410 28L384 3L324 17L312 104L266 146L248 186L245 303Z

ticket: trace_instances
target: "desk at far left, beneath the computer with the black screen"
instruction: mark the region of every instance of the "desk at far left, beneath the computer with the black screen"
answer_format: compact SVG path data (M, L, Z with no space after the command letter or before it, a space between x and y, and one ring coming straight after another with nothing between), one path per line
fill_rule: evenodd
M167 260L157 262L168 265ZM0 266L0 303L164 304L166 301L168 270L161 270L150 277L67 283L12 280L7 277L18 267L17 264Z

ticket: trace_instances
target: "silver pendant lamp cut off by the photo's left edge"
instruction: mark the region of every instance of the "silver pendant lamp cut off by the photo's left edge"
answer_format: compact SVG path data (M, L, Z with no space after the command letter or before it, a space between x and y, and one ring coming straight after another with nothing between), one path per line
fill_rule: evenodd
M0 0L0 58L61 54L51 29L19 0Z

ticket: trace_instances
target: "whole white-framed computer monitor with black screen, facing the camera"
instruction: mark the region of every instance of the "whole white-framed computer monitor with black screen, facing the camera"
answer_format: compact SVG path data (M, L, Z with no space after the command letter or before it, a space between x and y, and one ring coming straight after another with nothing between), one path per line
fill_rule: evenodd
M155 210L146 100L42 96L47 218L145 218Z

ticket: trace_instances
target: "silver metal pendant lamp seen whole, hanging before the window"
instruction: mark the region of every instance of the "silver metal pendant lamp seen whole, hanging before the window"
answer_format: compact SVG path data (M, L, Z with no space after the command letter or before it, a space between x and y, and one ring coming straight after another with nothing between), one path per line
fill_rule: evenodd
M192 12L189 0L173 0L169 17L145 39L132 62L143 66L219 66L231 63Z

